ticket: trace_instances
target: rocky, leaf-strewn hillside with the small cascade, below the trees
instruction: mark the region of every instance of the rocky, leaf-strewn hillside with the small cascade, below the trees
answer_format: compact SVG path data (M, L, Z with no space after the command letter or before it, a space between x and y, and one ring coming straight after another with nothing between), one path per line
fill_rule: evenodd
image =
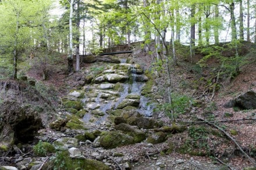
M66 73L65 56L59 56L46 81L36 74L36 68L27 72L29 81L1 80L0 165L19 169L40 169L41 165L42 169L54 169L62 164L69 167L72 163L62 150L76 147L80 152L70 153L73 160L97 160L90 163L94 168L87 169L255 166L248 157L255 162L256 115L255 108L247 106L248 99L256 95L244 97L246 106L245 102L239 103L238 97L256 92L254 44L244 42L239 47L239 60L231 60L233 49L225 49L221 60L212 55L204 67L198 62L208 52L197 49L190 57L189 47L178 45L178 65L172 66L170 72L172 106L166 93L165 64L156 63L156 56L144 53L140 44L133 44L133 49L131 54L97 57L107 62L88 62L94 56L86 56L81 70L72 75ZM115 63L120 58L127 60ZM227 66L237 61L240 68L234 74L235 68ZM255 106L255 99L249 102L251 106ZM175 111L175 122L170 109ZM35 131L38 133L23 138ZM118 143L112 146L115 140ZM41 145L33 150L38 141L53 144L55 151L48 152ZM86 169L83 162L77 164Z

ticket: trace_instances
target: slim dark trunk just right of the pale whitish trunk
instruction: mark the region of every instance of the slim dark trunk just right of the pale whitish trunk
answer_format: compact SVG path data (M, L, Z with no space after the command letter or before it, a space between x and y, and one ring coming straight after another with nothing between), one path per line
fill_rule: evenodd
M77 20L76 20L76 28L77 28L77 34L76 34L76 71L80 70L80 0L77 0Z

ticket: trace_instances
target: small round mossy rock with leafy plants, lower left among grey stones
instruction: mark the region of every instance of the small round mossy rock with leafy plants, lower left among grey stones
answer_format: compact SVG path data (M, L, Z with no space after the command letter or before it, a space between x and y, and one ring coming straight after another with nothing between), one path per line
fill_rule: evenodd
M35 155L45 157L50 153L55 153L55 148L51 143L42 142L41 140L33 148Z

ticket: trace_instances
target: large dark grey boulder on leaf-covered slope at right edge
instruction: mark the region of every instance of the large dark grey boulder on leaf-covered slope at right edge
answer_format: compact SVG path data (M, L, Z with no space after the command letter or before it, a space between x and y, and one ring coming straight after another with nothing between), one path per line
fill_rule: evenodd
M244 110L256 108L256 92L248 91L227 102L224 107L239 107Z

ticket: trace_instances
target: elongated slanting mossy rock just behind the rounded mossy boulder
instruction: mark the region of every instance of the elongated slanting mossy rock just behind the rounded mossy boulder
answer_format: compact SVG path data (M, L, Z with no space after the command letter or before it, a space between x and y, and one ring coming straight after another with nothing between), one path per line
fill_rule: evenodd
M119 124L115 126L115 129L118 131L123 131L127 135L133 136L134 142L138 143L146 139L146 135L143 131L138 129L136 126L131 126L128 124Z

